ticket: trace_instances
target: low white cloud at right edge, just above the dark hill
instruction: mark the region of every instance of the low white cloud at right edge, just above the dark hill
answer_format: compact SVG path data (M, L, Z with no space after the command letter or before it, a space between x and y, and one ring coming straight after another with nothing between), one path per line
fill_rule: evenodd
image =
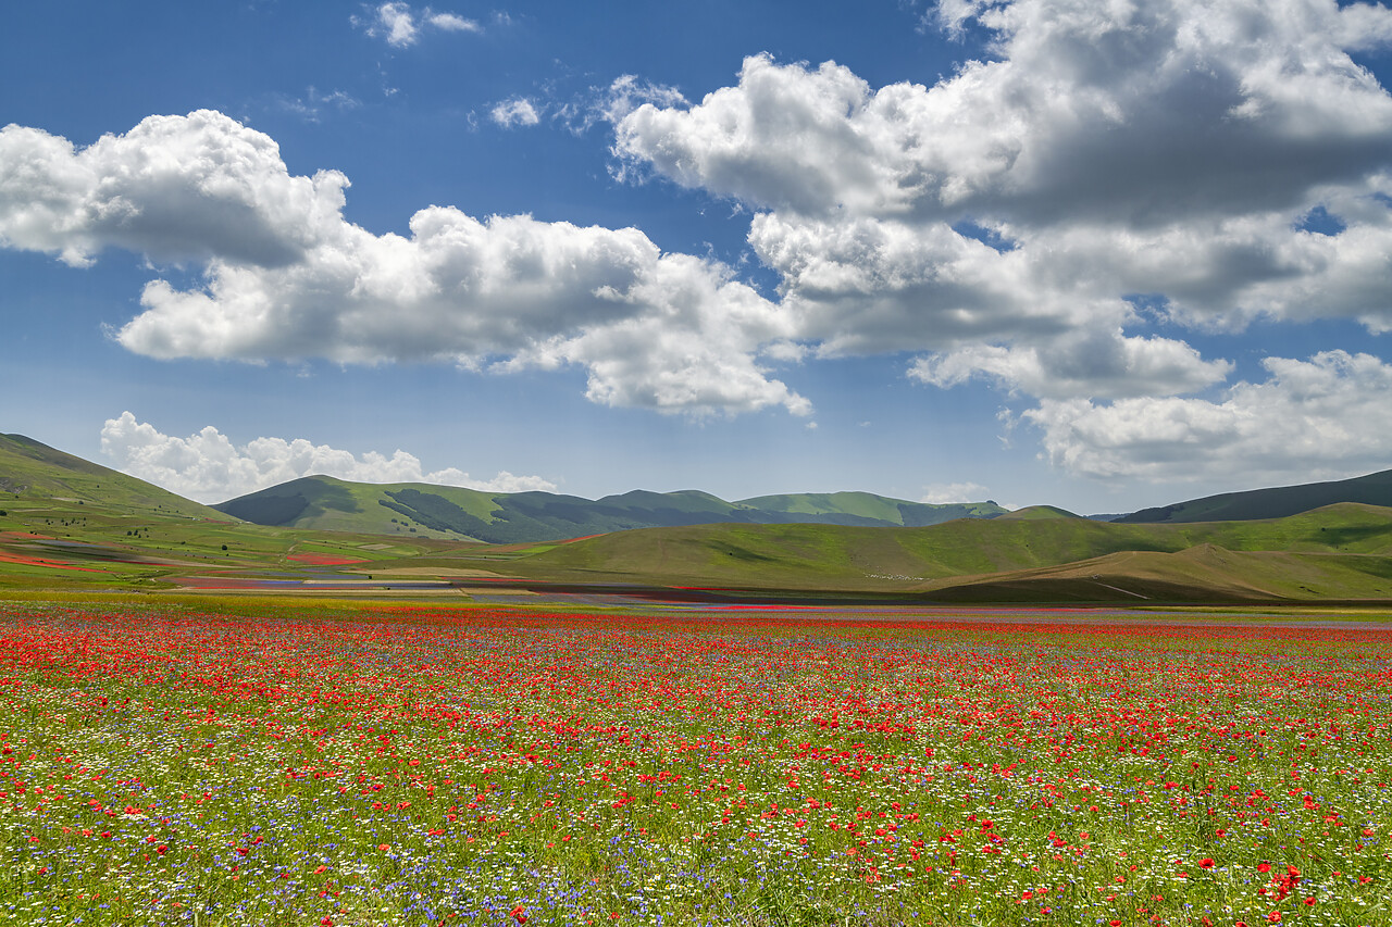
M1267 358L1268 379L1221 401L1136 397L1045 399L1025 412L1048 459L1098 477L1310 482L1392 462L1392 365L1327 351Z

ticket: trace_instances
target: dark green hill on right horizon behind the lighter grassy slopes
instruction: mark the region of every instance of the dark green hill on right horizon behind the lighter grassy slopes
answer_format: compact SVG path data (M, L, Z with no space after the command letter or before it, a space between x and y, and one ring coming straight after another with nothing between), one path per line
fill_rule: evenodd
M1187 502L1143 508L1139 512L1122 515L1115 521L1130 525L1256 521L1297 515L1299 512L1308 512L1313 508L1334 505L1335 502L1392 505L1392 470L1357 476L1352 480L1303 483L1300 486L1278 486L1243 493L1205 496L1204 498Z

